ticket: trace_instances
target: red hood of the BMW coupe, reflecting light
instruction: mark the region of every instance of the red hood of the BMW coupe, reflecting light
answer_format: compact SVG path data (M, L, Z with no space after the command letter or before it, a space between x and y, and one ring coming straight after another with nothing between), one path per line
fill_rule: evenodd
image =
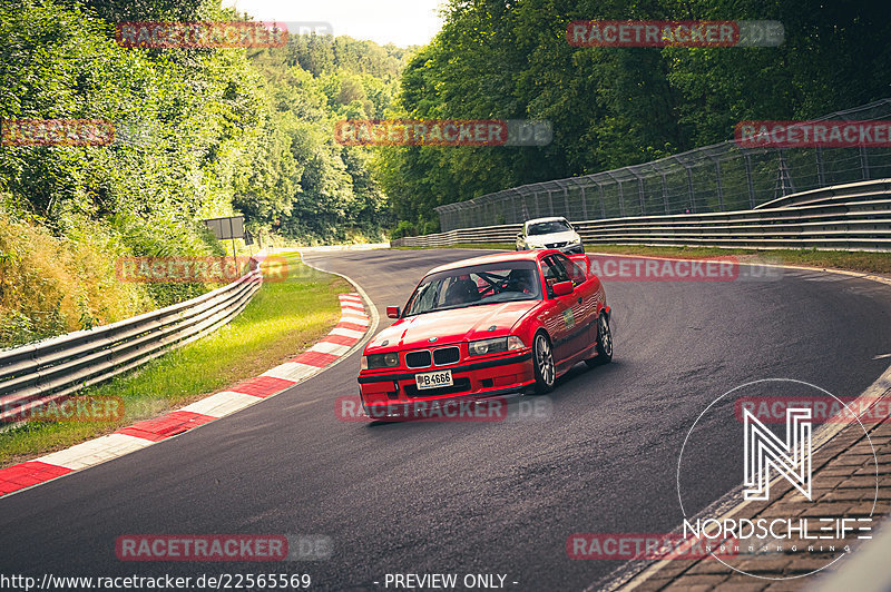
M452 308L401 318L379 333L365 348L366 353L389 352L394 347L411 349L449 343L501 337L541 300L484 304ZM489 327L496 328L489 330ZM430 342L435 337L434 342ZM386 345L384 345L386 344Z

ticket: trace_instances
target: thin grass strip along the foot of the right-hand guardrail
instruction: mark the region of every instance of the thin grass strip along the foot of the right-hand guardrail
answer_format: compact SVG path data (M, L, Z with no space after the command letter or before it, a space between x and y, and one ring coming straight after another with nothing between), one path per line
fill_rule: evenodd
M449 247L394 247L414 248L464 248L513 250L509 243L481 243L450 245ZM891 253L865 253L816 249L736 249L718 247L650 247L645 245L587 245L587 253L615 253L616 255L650 255L696 259L733 255L740 260L758 259L782 265L800 265L821 269L846 269L866 274L891 274Z

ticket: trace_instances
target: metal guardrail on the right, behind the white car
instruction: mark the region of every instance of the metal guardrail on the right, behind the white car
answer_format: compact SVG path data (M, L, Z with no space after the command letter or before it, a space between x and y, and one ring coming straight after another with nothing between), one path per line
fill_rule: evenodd
M891 179L824 187L738 211L605 218L572 224L586 245L891 250ZM401 238L391 245L513 244L520 228L518 224L457 228Z

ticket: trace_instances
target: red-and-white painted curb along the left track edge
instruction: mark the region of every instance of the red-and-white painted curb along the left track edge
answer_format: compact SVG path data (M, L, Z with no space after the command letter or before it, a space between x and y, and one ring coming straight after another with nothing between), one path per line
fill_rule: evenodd
M135 423L114 434L97 437L0 470L0 496L45 483L81 468L124 456L156 442L225 417L236 411L276 395L322 372L350 352L371 325L362 298L356 293L341 294L341 319L322 341L294 359L160 417Z

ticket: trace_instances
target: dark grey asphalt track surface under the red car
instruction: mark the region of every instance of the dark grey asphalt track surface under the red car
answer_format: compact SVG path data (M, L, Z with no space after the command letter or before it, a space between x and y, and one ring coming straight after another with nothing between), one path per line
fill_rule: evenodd
M431 267L480 251L317 253L390 320ZM567 558L576 532L681 523L675 467L693 421L750 381L855 395L888 366L891 289L786 272L775 282L607 283L613 364L574 368L552 416L525 423L340 422L359 353L288 392L121 458L0 500L0 573L309 573L314 590L384 590L386 573L507 574L509 590L580 590L620 564ZM272 365L272 361L271 361ZM714 456L732 456L713 426ZM727 448L727 450L725 450ZM738 484L718 462L685 503ZM121 534L323 534L326 561L121 562ZM380 582L375 585L373 582ZM512 582L517 582L513 584ZM392 590L392 588L391 588Z

